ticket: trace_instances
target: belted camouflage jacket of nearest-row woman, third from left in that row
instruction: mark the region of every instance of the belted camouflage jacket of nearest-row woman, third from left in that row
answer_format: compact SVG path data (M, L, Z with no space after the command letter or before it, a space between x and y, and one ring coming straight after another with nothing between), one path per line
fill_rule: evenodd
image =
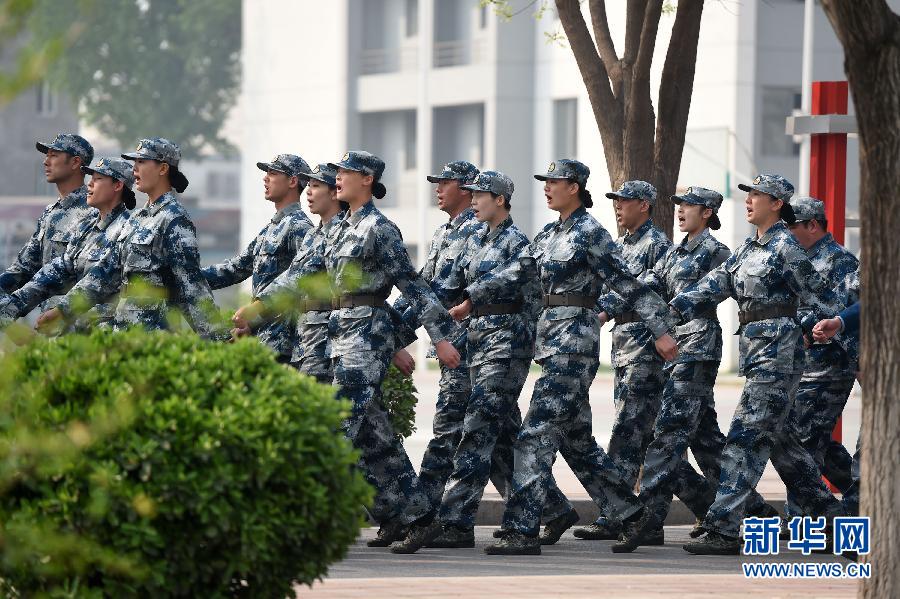
M647 321L654 337L668 332L665 303L631 274L612 237L584 207L565 221L545 226L518 258L485 273L466 288L466 294L476 306L488 304L503 289L526 285L531 279L538 280L544 294L590 298L597 298L605 283ZM600 321L595 310L553 306L541 311L536 360L555 354L596 356L599 352Z

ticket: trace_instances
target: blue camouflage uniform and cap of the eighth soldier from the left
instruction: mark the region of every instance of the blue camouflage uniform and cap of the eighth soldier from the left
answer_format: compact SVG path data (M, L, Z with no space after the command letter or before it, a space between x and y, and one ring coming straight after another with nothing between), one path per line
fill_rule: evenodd
M464 187L512 198L513 182L485 171ZM515 259L528 238L507 217L493 231L484 225L471 235L454 265L455 277L470 285L486 272ZM460 439L440 501L439 518L462 529L475 525L475 515L489 478L508 496L512 480L512 447L521 426L518 399L534 355L534 323L540 309L536 281L509 287L471 316L466 350L472 392L463 406ZM420 475L421 477L421 475Z

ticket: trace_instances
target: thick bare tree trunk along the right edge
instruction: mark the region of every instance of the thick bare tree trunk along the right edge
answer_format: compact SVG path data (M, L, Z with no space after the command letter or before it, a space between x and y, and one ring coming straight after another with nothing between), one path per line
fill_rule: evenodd
M844 46L859 128L862 228L862 504L872 577L860 596L900 597L900 17L884 0L822 0Z

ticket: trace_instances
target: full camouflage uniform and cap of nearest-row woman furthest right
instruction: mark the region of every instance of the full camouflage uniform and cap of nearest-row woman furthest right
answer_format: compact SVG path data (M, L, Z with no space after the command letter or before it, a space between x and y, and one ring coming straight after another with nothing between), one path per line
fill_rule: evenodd
M777 175L760 175L751 186L739 187L784 202L793 193L793 186ZM779 221L761 237L748 238L722 265L670 302L684 322L709 313L728 297L735 298L740 310L740 374L747 380L728 432L705 530L738 537L747 498L770 458L805 513L843 513L812 457L785 426L805 363L801 326L811 330L814 314L834 314L830 295L806 252ZM811 308L802 323L798 300Z

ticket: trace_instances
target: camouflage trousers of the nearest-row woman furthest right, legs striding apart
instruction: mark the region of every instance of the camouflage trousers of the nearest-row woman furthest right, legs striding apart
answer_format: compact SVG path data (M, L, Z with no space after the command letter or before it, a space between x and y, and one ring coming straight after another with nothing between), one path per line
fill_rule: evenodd
M840 502L825 487L812 456L786 426L800 374L758 370L747 375L722 452L716 499L706 514L706 530L737 537L750 492L771 459L803 513L840 516Z

